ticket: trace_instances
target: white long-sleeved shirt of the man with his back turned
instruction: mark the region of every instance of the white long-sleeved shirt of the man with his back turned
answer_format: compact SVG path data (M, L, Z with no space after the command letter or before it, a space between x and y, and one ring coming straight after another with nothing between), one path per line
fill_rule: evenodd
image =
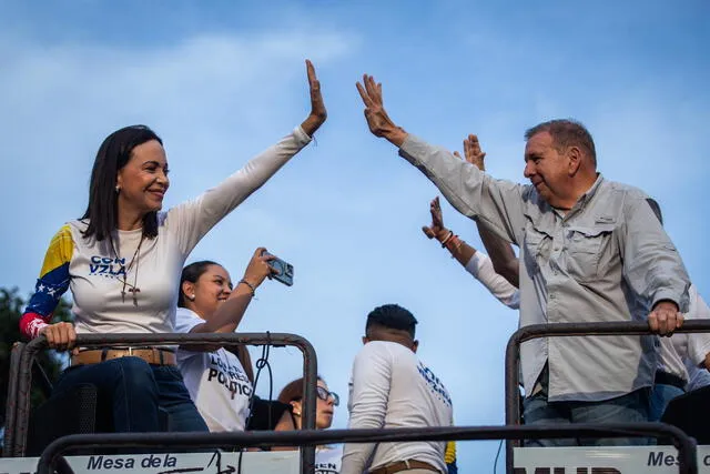
M349 428L452 426L452 399L442 381L408 347L365 344L353 363ZM417 460L446 472L445 442L352 444L343 450L342 474L362 474L385 464ZM367 465L371 458L372 463Z

